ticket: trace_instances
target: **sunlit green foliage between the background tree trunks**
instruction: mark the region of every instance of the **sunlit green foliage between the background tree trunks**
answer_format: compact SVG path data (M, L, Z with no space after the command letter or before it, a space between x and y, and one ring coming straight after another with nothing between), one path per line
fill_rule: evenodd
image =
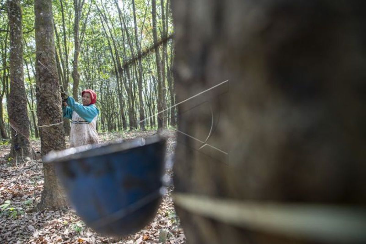
M157 1L157 31L159 39L163 33L162 11L168 23L168 35L172 34L174 29L172 25L170 5L171 1L164 0L164 9L161 9L160 1ZM169 2L169 3L168 3ZM62 3L62 7L61 7ZM121 16L117 11L115 1L86 1L81 10L80 28L79 28L79 68L80 74L79 93L83 89L94 89L98 94L97 107L100 109L98 116L99 131L116 131L122 127L120 113L124 112L129 123L129 117L139 118L139 92L142 93L142 102L144 104L145 117L148 113L157 113L157 67L154 52L151 52L142 58L142 91L138 90L138 68L136 63L123 67L123 74L119 74L117 57L121 65L129 62L131 58L138 53L138 45L135 38L135 27L137 29L137 40L142 51L153 45L152 35L152 5L148 0L135 0L136 26L134 23L133 9L130 1L117 1ZM35 40L34 40L34 1L22 0L22 18L23 18L23 57L24 79L27 94L28 117L31 121L31 132L34 136L37 124L37 101L35 89ZM90 5L91 4L91 5ZM7 8L6 1L0 0L0 29L7 30ZM97 9L100 9L98 11ZM90 8L89 8L90 7ZM57 71L59 71L60 82L68 85L67 92L72 94L73 87L73 54L74 54L74 1L73 0L52 0L53 20L55 24L55 47L57 55ZM90 12L88 12L90 9ZM104 18L102 17L104 16ZM124 20L126 28L121 19ZM103 29L105 28L105 30ZM82 31L85 31L82 34ZM5 73L0 72L0 79L5 80L5 86L0 82L0 92L5 91L9 79L9 52L10 40L9 33L0 32L0 69L5 67ZM128 37L127 37L128 35ZM115 41L113 43L113 40ZM6 45L5 45L6 44ZM6 49L5 49L6 46ZM171 89L168 87L168 78L171 78L173 64L173 44L169 41L164 55L163 46L160 47L161 57L165 60L165 97L170 98ZM6 56L3 56L6 54ZM3 60L3 57L5 59ZM168 73L169 71L169 73ZM116 74L117 73L117 74ZM5 76L4 76L5 75ZM3 79L4 78L4 79ZM171 84L173 80L171 81ZM170 85L171 85L170 84ZM6 93L4 98L6 97ZM120 104L119 97L122 97ZM134 109L131 110L132 102ZM80 100L79 100L80 101ZM167 102L171 104L171 102ZM147 106L148 105L148 106ZM6 108L4 99L3 108ZM131 112L132 111L132 112ZM35 115L35 123L31 119ZM1 118L0 118L1 119ZM7 110L3 109L3 120L8 125ZM117 121L119 120L119 121ZM146 128L152 128L146 121ZM156 122L157 123L157 122ZM129 128L128 128L129 129ZM6 145L7 142L0 142L0 145Z

